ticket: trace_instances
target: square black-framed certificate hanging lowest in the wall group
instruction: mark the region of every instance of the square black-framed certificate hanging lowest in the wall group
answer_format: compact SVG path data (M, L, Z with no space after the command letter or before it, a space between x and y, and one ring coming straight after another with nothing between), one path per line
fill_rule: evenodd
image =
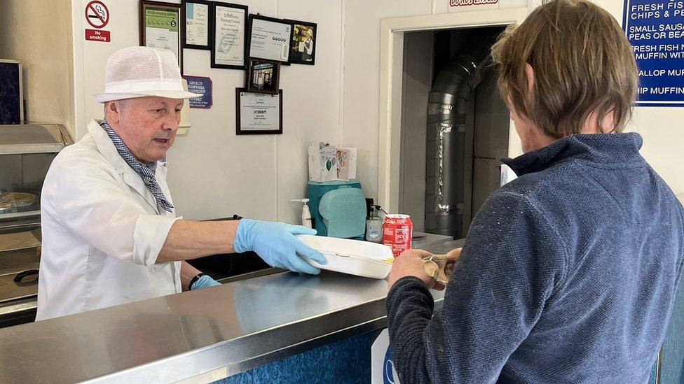
M282 134L282 90L278 94L235 88L235 133Z

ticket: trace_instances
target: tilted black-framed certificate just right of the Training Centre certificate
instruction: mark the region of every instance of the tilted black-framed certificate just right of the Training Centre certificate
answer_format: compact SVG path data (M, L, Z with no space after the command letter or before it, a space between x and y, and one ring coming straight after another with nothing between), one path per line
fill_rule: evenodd
M249 15L249 57L289 65L292 24L285 20Z

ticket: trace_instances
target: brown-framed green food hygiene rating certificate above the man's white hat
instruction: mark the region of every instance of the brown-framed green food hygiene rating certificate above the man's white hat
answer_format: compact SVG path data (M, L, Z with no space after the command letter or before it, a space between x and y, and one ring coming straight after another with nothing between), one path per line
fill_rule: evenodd
M181 5L140 0L139 14L140 45L170 50L178 59L178 66L183 73Z

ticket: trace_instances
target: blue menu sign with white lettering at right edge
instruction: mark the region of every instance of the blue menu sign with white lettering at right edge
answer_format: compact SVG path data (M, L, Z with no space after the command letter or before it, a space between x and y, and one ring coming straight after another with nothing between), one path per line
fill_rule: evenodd
M684 0L625 0L639 71L637 106L684 106Z

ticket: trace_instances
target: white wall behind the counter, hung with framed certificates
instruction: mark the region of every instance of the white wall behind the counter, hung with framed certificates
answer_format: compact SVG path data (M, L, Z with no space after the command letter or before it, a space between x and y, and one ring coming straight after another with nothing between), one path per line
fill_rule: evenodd
M69 9L64 1L51 0L49 7L39 8L46 1L3 0L1 5L6 11L0 23L3 31L0 52L11 53L6 41L19 41L16 36L22 36L20 45L25 50L33 50L28 57L36 58L25 58L25 62L31 63L32 73L44 73L43 78L27 83L29 117L38 116L39 112L30 108L37 105L34 99L41 100L47 106L41 111L57 111L41 120L62 119L76 138L80 138L90 118L102 117L102 106L93 101L92 95L102 91L107 57L118 48L139 43L139 1L104 0L111 13L106 27L111 31L111 43L84 41L83 29L87 24L83 10L87 0L72 0L73 28L61 30L60 26L68 25L69 20L66 15L60 15ZM377 198L380 22L387 17L453 11L449 9L449 0L238 2L249 5L250 13L317 22L316 65L282 69L284 134L238 137L234 90L244 84L244 72L210 69L208 51L185 50L185 73L212 78L214 106L210 110L191 110L193 128L189 136L177 138L168 155L169 183L179 214L190 219L206 219L239 213L297 222L299 206L289 203L289 199L304 196L306 146L320 140L359 149L358 177L367 196ZM19 3L22 3L20 10L7 11ZM513 8L526 3L525 0L500 0L490 6L455 10ZM622 19L622 1L598 0L598 3L617 20ZM57 25L43 22L48 17L67 22ZM11 20L24 22L13 24ZM47 24L50 24L49 33ZM32 34L22 32L22 25L33 25L34 30L44 32L36 40ZM11 34L6 33L8 27L15 28ZM9 40L7 36L11 36ZM69 40L73 41L73 52L64 43ZM46 51L36 50L38 42L43 43ZM50 59L39 57L36 52L46 52ZM63 72L70 60L74 78L64 81L69 79L69 74ZM683 118L684 109L637 108L633 124L644 137L643 155L677 193L684 192L684 178L679 176L683 167L676 159L679 143L684 139Z

